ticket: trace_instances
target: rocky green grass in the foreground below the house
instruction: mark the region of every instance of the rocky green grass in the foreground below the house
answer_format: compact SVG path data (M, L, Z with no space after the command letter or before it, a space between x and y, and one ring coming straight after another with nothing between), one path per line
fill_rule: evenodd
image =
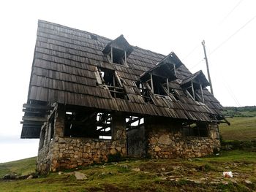
M123 161L80 168L88 177L82 181L67 174L71 170L32 180L0 180L0 191L255 191L255 156L254 151L233 150L188 160ZM15 166L26 161L31 160ZM223 171L232 171L234 177L223 177Z

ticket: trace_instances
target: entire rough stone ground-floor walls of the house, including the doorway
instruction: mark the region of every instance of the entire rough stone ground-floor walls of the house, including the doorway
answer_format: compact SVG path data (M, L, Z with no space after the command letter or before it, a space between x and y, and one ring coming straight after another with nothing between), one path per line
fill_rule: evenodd
M126 156L128 152L137 157L150 155L151 158L192 158L219 150L217 124L208 124L208 137L185 137L181 123L170 118L148 117L143 128L129 131L127 138L125 115L116 112L112 114L111 140L64 137L65 110L60 105L54 118L42 127L37 170L45 174L101 163L108 161L108 155L116 153Z

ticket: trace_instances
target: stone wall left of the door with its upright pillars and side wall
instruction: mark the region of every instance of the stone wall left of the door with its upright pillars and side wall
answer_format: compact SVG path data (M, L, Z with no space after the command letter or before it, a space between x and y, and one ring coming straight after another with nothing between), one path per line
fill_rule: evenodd
M64 137L64 121L65 111L60 105L56 111L53 139L38 153L37 170L40 173L101 163L108 161L109 154L127 155L125 118L121 114L113 115L111 140Z

